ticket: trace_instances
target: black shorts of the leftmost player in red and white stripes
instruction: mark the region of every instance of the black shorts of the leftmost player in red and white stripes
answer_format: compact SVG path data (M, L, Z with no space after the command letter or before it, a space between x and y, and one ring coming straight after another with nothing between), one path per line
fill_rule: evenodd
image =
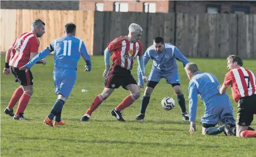
M10 66L10 69L15 77L15 82L19 82L20 85L33 85L33 76L30 70L19 70L13 66Z

